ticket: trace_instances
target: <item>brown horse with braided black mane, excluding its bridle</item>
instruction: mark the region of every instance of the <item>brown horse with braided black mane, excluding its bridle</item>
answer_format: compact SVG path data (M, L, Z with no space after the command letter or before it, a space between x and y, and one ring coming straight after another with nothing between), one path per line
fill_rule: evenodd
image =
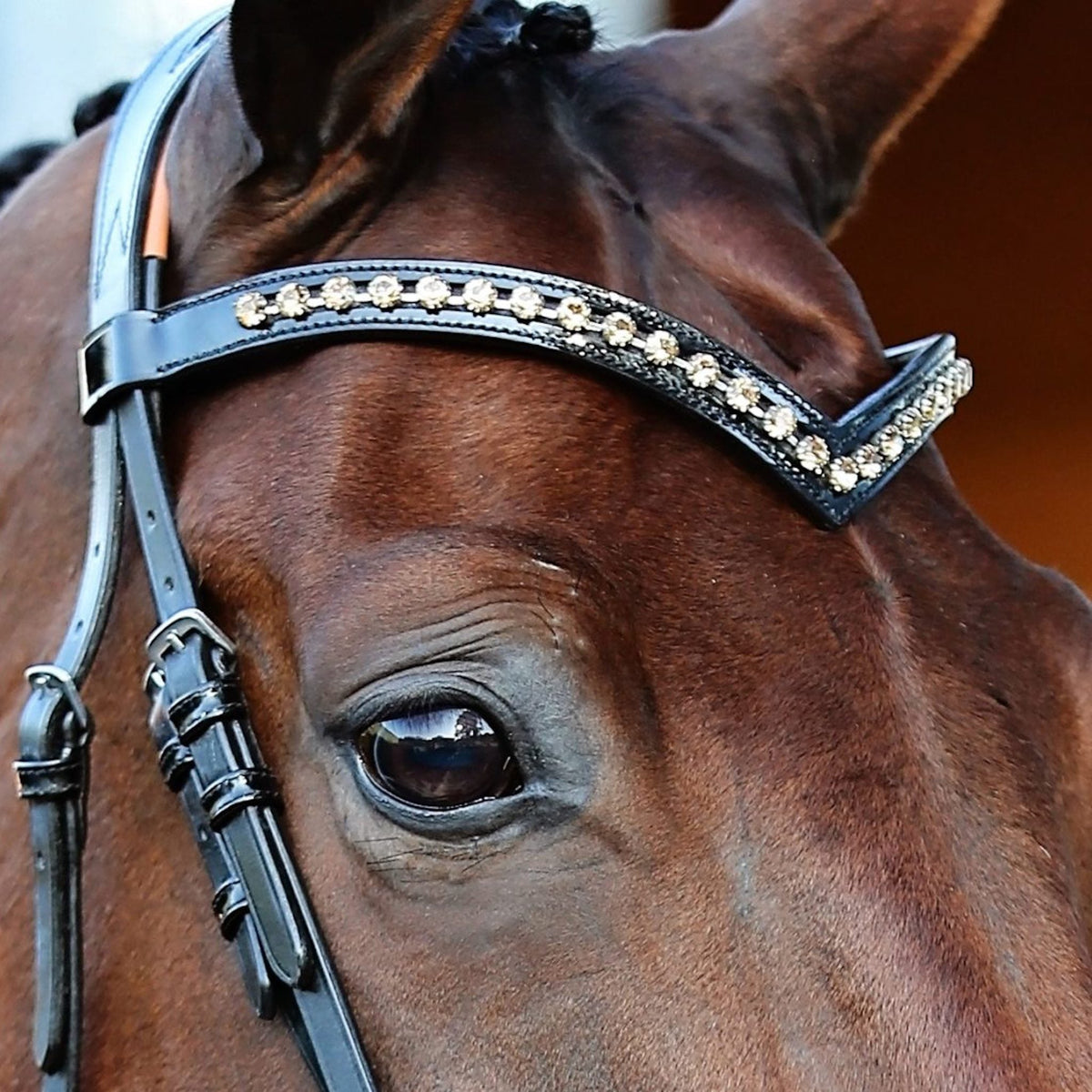
M173 121L168 297L305 260L518 263L836 414L887 365L828 240L997 7L737 0L596 49L556 4L236 0ZM0 214L5 761L78 575L107 128ZM399 340L278 365L165 401L167 462L384 1092L1092 1087L1092 616L933 446L829 531L587 369ZM128 539L87 691L83 1087L304 1090L155 769ZM429 719L475 740L460 776L400 748ZM12 793L0 820L0 1083L27 1089Z

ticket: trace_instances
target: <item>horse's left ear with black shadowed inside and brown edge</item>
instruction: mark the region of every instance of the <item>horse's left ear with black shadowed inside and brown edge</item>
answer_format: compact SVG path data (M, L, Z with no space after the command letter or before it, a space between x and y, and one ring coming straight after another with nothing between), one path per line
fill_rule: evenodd
M239 100L266 166L385 136L473 0L236 0Z

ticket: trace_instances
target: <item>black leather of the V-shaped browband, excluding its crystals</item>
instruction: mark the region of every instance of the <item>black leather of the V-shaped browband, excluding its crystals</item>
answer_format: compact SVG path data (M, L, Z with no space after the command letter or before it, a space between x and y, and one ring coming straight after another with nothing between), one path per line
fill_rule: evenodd
M367 285L377 276L390 276L405 288L393 306L379 306L368 297ZM452 299L429 308L418 301L413 288L423 278L442 278ZM323 286L346 278L355 286L356 302L342 310L323 304ZM464 302L463 289L473 281L486 281L497 293L487 311ZM297 300L306 294L311 306L305 313L277 313L278 290L290 288ZM513 313L513 293L533 290L542 299L542 314L529 320ZM248 298L269 301L272 314L260 325L248 328L239 318L239 302ZM565 300L586 304L586 325L571 330L558 321ZM298 310L297 305L297 310ZM625 346L609 344L604 323L610 316L625 316L636 331ZM677 355L668 361L650 359L646 335L666 333L675 340ZM701 417L721 432L743 443L803 499L820 523L841 526L858 512L925 444L948 416L965 390L946 377L966 368L956 359L954 339L939 335L891 349L895 368L891 381L840 420L831 420L787 384L770 376L740 353L722 345L678 319L606 292L594 285L551 274L497 265L444 261L329 262L282 270L250 277L182 300L159 311L129 311L96 330L81 353L81 402L84 416L94 420L104 407L135 389L150 390L182 379L214 365L237 366L240 359L261 365L269 356L261 351L275 345L339 339L466 337L502 345L517 345L561 357L637 382L675 406ZM687 368L700 355L715 360L719 379L697 385ZM755 402L733 407L727 384L746 380ZM943 392L942 397L938 392ZM728 392L728 393L726 393ZM934 394L938 396L934 397ZM927 415L917 406L931 406ZM790 437L771 435L765 414L775 408L791 411L795 423ZM833 476L862 448L877 447L883 429L907 413L917 414L913 427L898 439L898 453L880 455L869 466L871 476L857 474L852 488L842 489ZM797 453L803 438L822 441L824 460L808 466ZM878 448L877 448L878 450Z

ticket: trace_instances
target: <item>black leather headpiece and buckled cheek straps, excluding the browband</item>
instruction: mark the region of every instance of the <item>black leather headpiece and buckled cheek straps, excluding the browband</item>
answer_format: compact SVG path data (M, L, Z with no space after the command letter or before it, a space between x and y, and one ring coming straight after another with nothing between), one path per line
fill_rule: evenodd
M92 324L154 306L158 287L139 249L151 179L174 107L204 56L218 17L167 47L127 95L104 161L91 277ZM82 970L80 851L91 722L76 690L97 650L116 582L122 463L156 612L150 692L161 767L190 818L214 888L221 929L236 945L259 1016L285 1014L323 1090L373 1092L359 1036L281 835L275 782L264 769L241 699L204 708L186 743L170 712L190 720L214 685L236 690L226 639L195 610L174 524L149 395L119 399L95 426L95 485L87 566L76 616L58 657L43 668L23 716L16 771L32 811L36 858L37 1007L35 1055L49 1092L78 1087ZM162 640L167 639L163 644ZM67 667L71 665L73 675ZM192 705L192 702L191 702ZM185 714L185 716L183 716ZM78 731L78 728L80 731Z

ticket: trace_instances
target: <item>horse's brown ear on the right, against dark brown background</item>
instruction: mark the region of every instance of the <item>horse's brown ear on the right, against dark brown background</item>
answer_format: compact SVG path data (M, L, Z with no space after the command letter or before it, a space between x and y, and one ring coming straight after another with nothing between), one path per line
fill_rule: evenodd
M829 232L1001 2L736 0L704 31L651 50L696 109L731 126L757 119L785 147L812 219Z

